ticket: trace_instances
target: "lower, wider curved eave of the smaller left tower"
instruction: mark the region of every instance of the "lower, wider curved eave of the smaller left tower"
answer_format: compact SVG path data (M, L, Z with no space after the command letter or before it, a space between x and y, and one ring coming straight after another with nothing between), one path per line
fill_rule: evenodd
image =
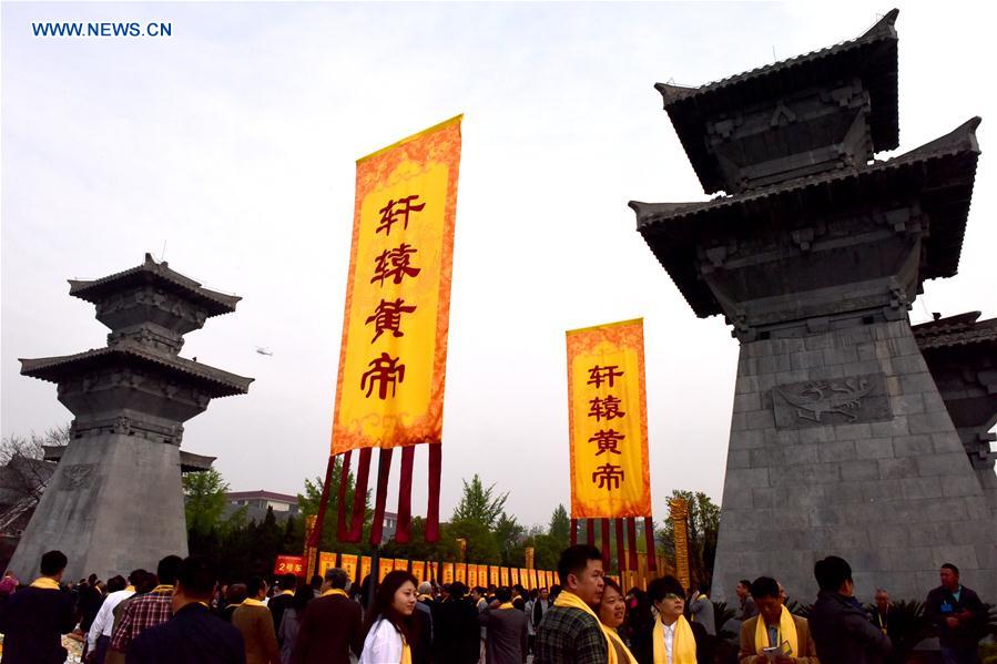
M77 355L37 359L21 358L20 362L21 375L55 384L72 380L81 372L114 365L144 365L153 370L165 369L177 380L194 382L214 398L244 395L250 390L250 385L254 380L182 357L165 358L124 345L98 348Z

